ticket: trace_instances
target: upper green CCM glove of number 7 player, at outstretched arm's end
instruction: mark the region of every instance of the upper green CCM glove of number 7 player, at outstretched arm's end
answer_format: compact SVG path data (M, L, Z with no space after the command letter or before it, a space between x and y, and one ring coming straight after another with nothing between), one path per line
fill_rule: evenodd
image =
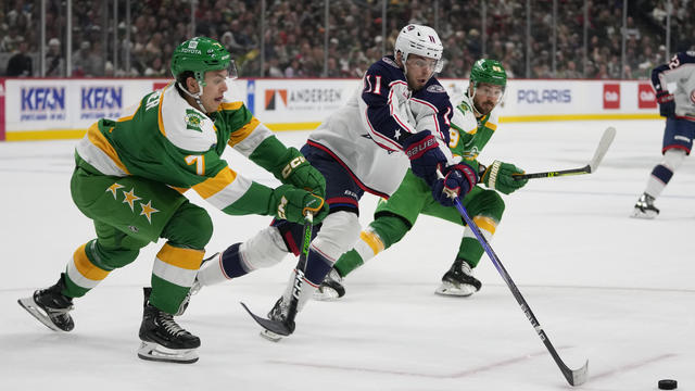
M296 148L287 149L287 160L274 168L273 174L282 184L293 185L314 194L326 198L326 179L314 168Z

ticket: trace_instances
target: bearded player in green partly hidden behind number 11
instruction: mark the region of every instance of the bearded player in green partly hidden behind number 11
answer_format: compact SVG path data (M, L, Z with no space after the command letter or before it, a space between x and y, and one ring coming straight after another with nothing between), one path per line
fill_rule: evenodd
M503 97L506 83L506 72L498 61L478 60L470 72L468 91L463 97L452 98L455 110L448 147L454 155L459 155L467 164L478 167L480 184L488 187L473 187L462 203L488 240L495 232L505 207L497 191L509 194L528 181L513 178L513 175L523 173L513 164L494 161L485 167L477 161L478 154L497 128L495 106ZM344 253L333 265L314 298L334 300L344 295L342 279L403 239L420 213L465 224L456 209L442 206L434 201L427 184L408 171L395 193L388 200L380 200L375 211L375 220L361 232L354 249ZM442 283L435 293L467 297L480 290L481 282L473 277L472 269L478 265L482 253L483 249L472 230L466 227L458 254L442 277Z

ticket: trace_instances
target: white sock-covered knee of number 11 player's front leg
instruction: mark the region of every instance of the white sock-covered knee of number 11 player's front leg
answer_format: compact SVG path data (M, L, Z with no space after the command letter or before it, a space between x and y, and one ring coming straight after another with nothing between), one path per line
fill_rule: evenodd
M352 212L331 213L324 219L321 229L312 247L329 261L336 262L345 251L352 249L359 237L359 219Z

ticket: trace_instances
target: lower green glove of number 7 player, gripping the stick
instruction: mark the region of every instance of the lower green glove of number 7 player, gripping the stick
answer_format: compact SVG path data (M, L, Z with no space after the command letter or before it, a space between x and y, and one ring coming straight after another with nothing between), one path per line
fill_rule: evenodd
M314 214L314 224L328 215L328 204L324 199L292 185L282 185L273 190L268 214L292 223L304 223L304 214Z

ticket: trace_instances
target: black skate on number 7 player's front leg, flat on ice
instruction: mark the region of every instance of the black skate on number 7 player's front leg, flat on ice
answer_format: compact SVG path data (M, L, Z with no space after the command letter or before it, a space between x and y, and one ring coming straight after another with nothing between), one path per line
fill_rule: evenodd
M150 304L150 288L144 288L144 311L140 325L138 357L149 361L191 364L198 361L200 338L181 328L174 315Z

